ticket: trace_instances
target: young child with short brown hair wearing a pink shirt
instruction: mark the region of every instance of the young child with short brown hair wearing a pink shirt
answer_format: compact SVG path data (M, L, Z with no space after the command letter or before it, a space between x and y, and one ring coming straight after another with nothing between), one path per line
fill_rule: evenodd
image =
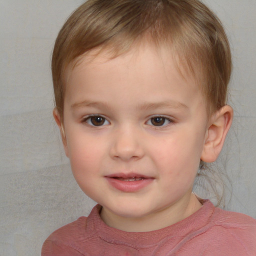
M256 221L193 181L231 125L221 23L198 0L88 0L55 42L52 77L73 175L98 204L48 255L255 255Z

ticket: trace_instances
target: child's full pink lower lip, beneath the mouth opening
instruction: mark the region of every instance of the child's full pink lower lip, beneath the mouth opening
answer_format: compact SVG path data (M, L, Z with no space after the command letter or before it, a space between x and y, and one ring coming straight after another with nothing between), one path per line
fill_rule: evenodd
M153 178L144 178L134 181L123 181L111 177L106 177L106 179L111 186L123 192L136 192L149 185L153 181Z

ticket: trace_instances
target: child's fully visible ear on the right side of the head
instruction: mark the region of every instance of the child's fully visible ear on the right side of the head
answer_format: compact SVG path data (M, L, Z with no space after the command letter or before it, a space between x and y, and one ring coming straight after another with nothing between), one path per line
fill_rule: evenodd
M213 162L217 159L223 146L226 134L233 119L233 109L224 105L217 110L209 119L208 129L205 134L201 160Z

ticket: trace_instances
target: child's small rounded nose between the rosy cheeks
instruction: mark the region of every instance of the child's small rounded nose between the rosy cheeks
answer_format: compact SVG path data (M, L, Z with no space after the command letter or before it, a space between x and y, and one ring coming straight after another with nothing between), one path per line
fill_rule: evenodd
M143 157L143 142L141 134L131 127L116 130L110 148L114 159L123 161L137 160Z

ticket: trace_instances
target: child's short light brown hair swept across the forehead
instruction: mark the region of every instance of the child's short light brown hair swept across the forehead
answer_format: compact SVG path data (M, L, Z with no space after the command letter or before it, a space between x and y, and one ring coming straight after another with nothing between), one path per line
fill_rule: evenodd
M226 103L229 43L219 19L199 0L87 0L64 23L53 49L52 79L60 116L69 63L94 48L107 48L117 56L142 39L173 49L179 64L197 79L208 113Z

